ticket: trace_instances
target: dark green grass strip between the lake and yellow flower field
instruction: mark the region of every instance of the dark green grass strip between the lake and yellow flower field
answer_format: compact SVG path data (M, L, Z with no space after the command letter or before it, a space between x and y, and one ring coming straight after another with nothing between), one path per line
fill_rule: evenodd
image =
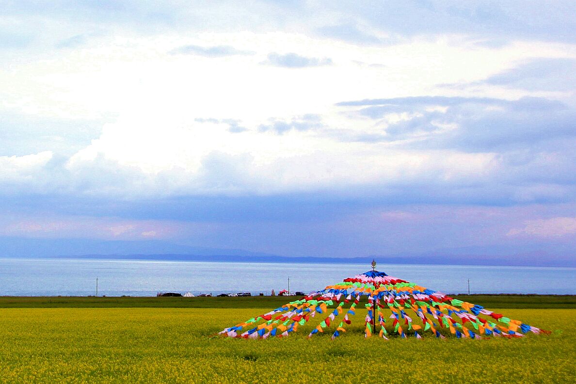
M576 295L453 295L463 301L487 308L575 308ZM97 307L156 307L156 308L270 308L300 299L299 296L252 297L19 297L0 296L0 308L97 308Z

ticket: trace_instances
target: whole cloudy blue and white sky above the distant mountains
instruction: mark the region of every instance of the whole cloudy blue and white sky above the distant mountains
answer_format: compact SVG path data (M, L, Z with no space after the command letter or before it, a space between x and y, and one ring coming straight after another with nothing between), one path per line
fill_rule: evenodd
M3 2L0 236L574 260L575 8Z

